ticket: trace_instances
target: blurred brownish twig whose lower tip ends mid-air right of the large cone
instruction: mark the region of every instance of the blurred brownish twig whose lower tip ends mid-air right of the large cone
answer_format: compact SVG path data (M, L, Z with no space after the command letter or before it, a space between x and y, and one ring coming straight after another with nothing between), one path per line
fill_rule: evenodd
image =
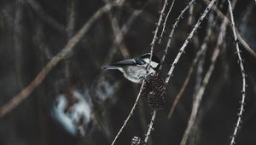
M212 18L213 19L213 18ZM189 80L191 78L191 75L194 71L195 65L197 63L197 61L199 60L199 58L201 57L201 55L206 51L207 49L207 43L210 39L210 37L212 36L212 26L215 25L215 23L212 23L212 20L209 20L209 28L207 31L207 36L204 39L204 43L201 45L201 49L197 51L196 55L195 55L195 59L192 62L192 64L189 67L189 73L187 78L185 79L185 81L183 82L183 86L182 88L178 91L177 96L175 96L174 98L174 102L172 103L172 108L170 109L169 113L168 113L168 119L172 118L172 114L174 113L175 108L177 107L177 102L180 100L181 96L183 95L183 91L185 90L185 88L187 87L187 85L189 84Z

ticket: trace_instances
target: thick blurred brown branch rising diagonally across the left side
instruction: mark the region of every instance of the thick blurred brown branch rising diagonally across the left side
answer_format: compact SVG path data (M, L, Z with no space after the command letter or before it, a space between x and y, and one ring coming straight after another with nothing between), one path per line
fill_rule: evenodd
M36 78L34 78L32 82L26 86L26 88L21 90L18 95L12 97L9 102L4 104L3 107L0 107L0 117L3 117L12 111L15 107L17 107L20 102L24 101L32 93L32 91L37 88L39 84L41 84L41 82L52 70L52 68L55 67L59 61L61 61L68 53L73 50L74 46L79 43L84 34L89 31L92 24L97 19L99 19L102 14L105 14L108 10L112 9L112 7L113 4L106 4L101 9L98 9L96 13L90 17L90 20L88 20L79 30L79 32L77 32L73 38L69 39L67 45L47 63L47 65L40 71L40 73L38 73Z

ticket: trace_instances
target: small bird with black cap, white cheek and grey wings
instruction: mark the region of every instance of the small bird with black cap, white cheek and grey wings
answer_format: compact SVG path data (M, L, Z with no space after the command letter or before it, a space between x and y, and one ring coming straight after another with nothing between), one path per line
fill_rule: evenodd
M115 62L113 64L103 66L102 69L117 69L131 82L141 83L143 78L145 78L148 74L155 73L160 65L160 59L157 56L152 55L152 60L147 73L149 59L150 53L135 57L133 59Z

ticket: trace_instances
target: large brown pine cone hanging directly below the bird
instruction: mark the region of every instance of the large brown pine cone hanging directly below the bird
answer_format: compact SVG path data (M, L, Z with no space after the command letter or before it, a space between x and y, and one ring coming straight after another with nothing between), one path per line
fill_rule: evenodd
M164 106L165 82L158 73L149 74L143 87L142 96L149 107L160 109Z

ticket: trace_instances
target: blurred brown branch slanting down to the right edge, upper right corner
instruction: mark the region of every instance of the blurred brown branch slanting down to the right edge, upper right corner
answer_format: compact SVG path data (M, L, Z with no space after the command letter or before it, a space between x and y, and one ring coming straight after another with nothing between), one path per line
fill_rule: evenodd
M205 3L209 3L209 0L204 0ZM218 16L224 20L227 19L229 21L230 27L232 27L232 23L229 18L227 18L216 6L213 6L212 9L218 14ZM243 47L256 59L256 52L253 51L251 46L241 37L240 32L236 29L236 34L239 42L243 45Z

